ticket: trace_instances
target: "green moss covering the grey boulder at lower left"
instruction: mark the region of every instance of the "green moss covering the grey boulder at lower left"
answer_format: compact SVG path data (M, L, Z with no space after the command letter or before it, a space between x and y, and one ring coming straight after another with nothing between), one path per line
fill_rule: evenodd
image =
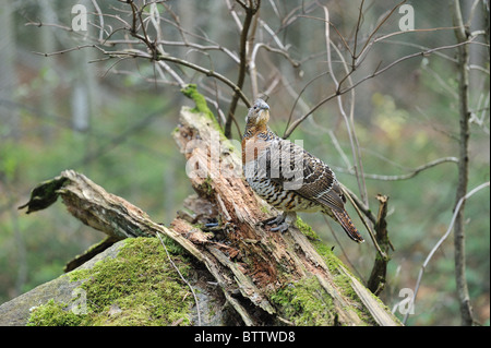
M165 242L185 277L188 261L178 254L178 248ZM87 314L75 315L65 310L68 305L47 303L33 312L32 325L170 325L177 321L190 324L193 297L157 238L129 238L117 257L68 276L72 281L84 280L81 288L86 295Z

